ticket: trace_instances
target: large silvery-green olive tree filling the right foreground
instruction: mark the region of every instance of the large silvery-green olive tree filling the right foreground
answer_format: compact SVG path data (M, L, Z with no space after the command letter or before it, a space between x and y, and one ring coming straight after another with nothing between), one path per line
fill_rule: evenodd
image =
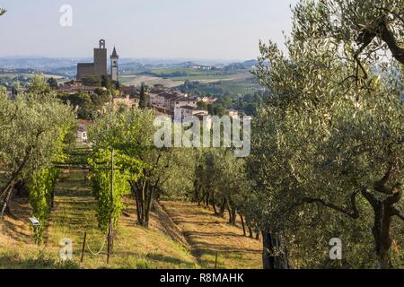
M347 57L354 50L347 43L341 48L339 39L324 37L330 28L323 23L325 7L347 3L356 13L364 9L356 1L297 4L292 36L285 43L288 55L271 42L260 44L255 74L272 96L253 123L247 170L254 181L251 203L264 230L267 267L288 265L285 262L294 250L282 246L281 239L292 247L300 242L302 248L302 238L299 241L296 236L310 238L302 229L321 224L319 214L328 214L329 222L336 224L329 229L339 232L335 237L349 238L346 246L352 249L359 250L359 245L369 242L366 237L373 236L370 250L375 252L364 259L358 251L350 261L344 259L345 266L372 266L374 258L382 268L390 267L395 257L393 240L402 240L391 238L400 234L404 220L402 74L394 60L386 65L389 73L375 74L378 57L366 57L357 72L362 80L349 80L358 69L357 61ZM361 3L366 6L367 2ZM396 11L394 6L391 9ZM353 17L354 12L347 13L344 19ZM352 29L347 23L341 25L340 30ZM353 233L359 232L352 229L356 222L369 226L369 230L362 229L362 239ZM338 224L349 228L342 230ZM329 234L329 230L321 233ZM328 248L328 240L322 242L323 247ZM307 248L312 246L307 243ZM291 259L299 265L299 260Z

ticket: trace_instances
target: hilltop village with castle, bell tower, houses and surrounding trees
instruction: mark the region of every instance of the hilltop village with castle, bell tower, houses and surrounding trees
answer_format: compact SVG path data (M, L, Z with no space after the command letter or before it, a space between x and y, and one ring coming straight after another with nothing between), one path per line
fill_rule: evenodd
M198 68L205 70L206 66ZM75 80L57 83L53 78L48 79L50 87L57 91L58 97L75 107L79 121L77 136L81 141L87 141L87 126L94 115L104 113L110 103L115 108L124 105L154 109L157 115L173 120L195 116L201 121L207 117L208 122L211 122L211 117L218 115L213 109L217 100L215 97L196 96L162 84L147 86L142 83L140 86L128 86L119 83L119 78L117 48L113 48L108 65L106 41L101 39L99 47L93 49L93 62L77 64ZM12 91L10 96L13 96ZM224 109L220 116L239 117L239 114L242 113L238 110Z

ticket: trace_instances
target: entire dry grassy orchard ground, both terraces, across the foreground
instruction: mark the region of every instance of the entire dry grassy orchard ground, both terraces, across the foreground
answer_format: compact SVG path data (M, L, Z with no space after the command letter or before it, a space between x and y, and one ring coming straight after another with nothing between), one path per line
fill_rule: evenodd
M133 200L127 209L131 215L122 215L116 228L110 265L106 265L106 248L99 256L93 256L86 248L80 264L84 231L87 230L88 245L95 252L101 248L104 237L97 227L96 201L85 175L79 171L61 175L55 208L44 234L45 244L40 247L32 242L29 204L26 199L17 201L12 205L16 218L5 216L0 225L0 268L213 268L216 249L221 251L220 268L260 268L259 242L243 238L242 230L229 226L224 219L194 204L166 202L164 209L178 226L162 213L153 213L151 228L146 230L136 225ZM167 232L168 221L174 224L171 234ZM181 240L174 241L172 237L182 238L182 242L187 239L188 244L177 243ZM74 255L72 262L64 263L59 260L59 242L65 238L72 239ZM187 245L191 251L184 248Z

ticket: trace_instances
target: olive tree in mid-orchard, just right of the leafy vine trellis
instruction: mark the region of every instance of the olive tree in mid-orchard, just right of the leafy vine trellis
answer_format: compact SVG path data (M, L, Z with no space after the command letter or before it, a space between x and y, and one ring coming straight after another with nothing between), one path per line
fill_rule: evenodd
M191 186L191 177L185 175L192 158L184 151L154 145L155 117L147 109L110 110L90 131L94 152L119 152L117 170L127 174L127 191L136 199L137 222L145 228L156 199L164 194L186 194Z

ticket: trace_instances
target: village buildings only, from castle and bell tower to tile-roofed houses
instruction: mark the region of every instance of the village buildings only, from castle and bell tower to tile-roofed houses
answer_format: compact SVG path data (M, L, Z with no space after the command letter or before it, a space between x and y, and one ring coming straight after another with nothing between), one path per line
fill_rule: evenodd
M114 106L119 105L138 106L141 97L144 97L145 106L149 109L155 109L159 115L174 117L174 114L181 117L196 116L202 117L211 114L209 107L217 99L208 97L193 96L188 93L182 93L178 90L164 87L162 84L155 84L152 87L143 85L125 86L119 83L119 55L117 48L113 48L110 55L110 71L108 69L106 42L100 40L99 47L93 49L92 63L78 63L76 79L67 83L57 85L57 92L63 99L75 103L77 99L71 99L77 94L86 93L93 98L93 95L104 96L110 92ZM205 67L204 67L205 68ZM144 95L141 95L144 90ZM75 98L75 97L74 97ZM102 98L102 97L101 97ZM79 103L80 100L77 100ZM88 113L80 113L80 104L77 105L78 117L88 119ZM231 116L238 116L238 111L229 109L226 113Z

